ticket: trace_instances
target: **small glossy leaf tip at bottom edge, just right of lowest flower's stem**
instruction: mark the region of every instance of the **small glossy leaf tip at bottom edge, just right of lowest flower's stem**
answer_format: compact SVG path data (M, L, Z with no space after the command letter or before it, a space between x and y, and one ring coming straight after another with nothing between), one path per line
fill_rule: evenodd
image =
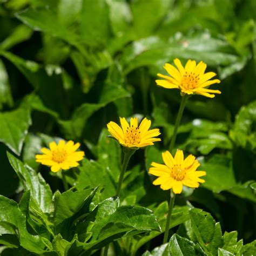
M170 253L171 255L177 256L186 256L186 255L206 255L200 246L196 247L196 245L183 237L180 237L178 234L172 235L170 242Z

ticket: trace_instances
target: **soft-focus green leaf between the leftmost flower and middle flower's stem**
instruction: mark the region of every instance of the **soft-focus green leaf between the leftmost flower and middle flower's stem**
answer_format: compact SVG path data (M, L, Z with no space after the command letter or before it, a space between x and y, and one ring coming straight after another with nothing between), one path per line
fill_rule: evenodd
M96 161L84 158L78 169L79 173L77 174L76 182L78 190L83 190L87 186L103 185L105 187L103 198L111 197L116 194L116 182L118 177L114 177L108 167Z

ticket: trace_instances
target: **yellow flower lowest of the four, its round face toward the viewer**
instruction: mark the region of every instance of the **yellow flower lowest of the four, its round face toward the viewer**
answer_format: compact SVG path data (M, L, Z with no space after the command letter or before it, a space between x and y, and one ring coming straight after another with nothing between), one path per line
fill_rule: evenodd
M170 190L172 188L175 194L180 194L183 185L187 187L198 187L199 182L204 183L205 180L199 177L205 176L205 171L196 171L198 160L190 154L184 159L183 151L177 150L174 158L169 151L163 152L163 164L151 163L149 173L158 176L153 181L154 185L160 185L162 190Z

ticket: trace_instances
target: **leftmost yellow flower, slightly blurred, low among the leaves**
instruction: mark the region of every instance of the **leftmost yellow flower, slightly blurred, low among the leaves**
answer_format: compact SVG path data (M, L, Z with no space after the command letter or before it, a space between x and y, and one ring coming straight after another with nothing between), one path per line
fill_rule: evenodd
M36 161L43 165L51 166L52 172L76 167L79 165L77 162L84 157L83 151L75 152L80 143L74 145L72 140L69 140L66 144L64 140L60 140L58 145L55 142L51 142L49 146L50 149L46 149L46 147L41 149L43 154L37 154Z

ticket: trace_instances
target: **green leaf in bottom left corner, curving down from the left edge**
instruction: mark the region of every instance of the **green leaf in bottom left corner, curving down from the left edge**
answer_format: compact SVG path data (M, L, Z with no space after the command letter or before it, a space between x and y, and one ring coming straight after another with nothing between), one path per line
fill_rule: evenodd
M19 241L21 246L30 252L45 252L45 244L38 236L31 235L26 230L25 215L19 210L18 204L6 197L0 195L0 223L6 221L14 225L19 233ZM48 249L46 248L46 251Z

